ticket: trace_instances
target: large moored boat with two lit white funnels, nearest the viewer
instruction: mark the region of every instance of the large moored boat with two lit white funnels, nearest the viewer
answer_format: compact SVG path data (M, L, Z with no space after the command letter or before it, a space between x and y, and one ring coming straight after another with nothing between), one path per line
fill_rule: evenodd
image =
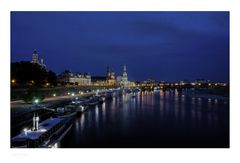
M33 128L24 129L11 139L12 148L49 148L60 141L72 127L73 116L47 119L39 124L39 117L33 117Z

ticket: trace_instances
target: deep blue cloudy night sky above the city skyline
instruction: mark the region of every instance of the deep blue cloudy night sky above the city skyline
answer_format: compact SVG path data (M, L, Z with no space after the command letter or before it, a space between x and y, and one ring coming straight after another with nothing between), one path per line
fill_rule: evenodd
M12 12L11 61L130 80L229 81L228 12Z

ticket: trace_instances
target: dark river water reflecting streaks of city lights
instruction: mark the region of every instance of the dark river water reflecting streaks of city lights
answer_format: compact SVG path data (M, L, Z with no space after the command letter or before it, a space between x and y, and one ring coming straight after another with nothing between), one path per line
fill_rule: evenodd
M177 91L125 94L78 116L57 146L229 147L229 100Z

